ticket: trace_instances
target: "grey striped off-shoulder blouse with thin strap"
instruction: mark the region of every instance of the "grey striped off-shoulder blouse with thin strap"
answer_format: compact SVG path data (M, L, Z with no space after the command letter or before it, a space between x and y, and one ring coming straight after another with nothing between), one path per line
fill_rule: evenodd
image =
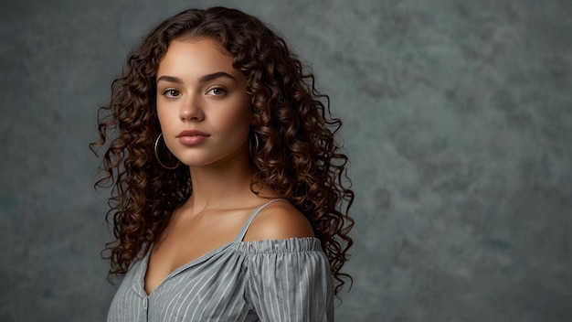
M177 268L150 295L145 254L125 274L108 322L333 321L333 279L318 239L242 241L266 205L235 241Z

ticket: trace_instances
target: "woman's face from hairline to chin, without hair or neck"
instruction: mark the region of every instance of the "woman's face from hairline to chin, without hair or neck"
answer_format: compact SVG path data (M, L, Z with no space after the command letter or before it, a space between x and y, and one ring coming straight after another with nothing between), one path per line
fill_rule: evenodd
M182 163L211 166L248 159L250 97L244 77L217 43L173 41L156 81L164 141Z

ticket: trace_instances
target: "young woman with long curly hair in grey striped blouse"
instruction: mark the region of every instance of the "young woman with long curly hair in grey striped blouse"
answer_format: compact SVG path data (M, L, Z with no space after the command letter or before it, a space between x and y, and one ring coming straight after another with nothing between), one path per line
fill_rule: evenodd
M223 7L172 16L132 52L91 145L124 274L108 321L334 318L354 193L313 80Z

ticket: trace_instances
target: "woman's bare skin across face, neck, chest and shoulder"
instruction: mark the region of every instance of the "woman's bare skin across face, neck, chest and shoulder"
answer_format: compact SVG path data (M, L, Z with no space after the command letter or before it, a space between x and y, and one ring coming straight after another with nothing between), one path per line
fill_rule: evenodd
M189 166L193 194L154 244L145 274L147 294L177 267L234 241L252 210L279 198L270 188L258 188L258 196L249 188L250 97L224 49L211 39L175 40L156 81L164 142ZM290 203L278 201L260 211L244 241L304 237L313 237L309 221Z

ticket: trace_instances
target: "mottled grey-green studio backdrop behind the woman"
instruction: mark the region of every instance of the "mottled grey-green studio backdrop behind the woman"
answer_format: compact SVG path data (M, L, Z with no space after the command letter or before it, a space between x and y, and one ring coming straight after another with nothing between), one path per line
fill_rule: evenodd
M96 110L150 27L213 4L3 1L2 321L104 320ZM572 320L571 1L218 4L281 30L344 119L338 321Z

